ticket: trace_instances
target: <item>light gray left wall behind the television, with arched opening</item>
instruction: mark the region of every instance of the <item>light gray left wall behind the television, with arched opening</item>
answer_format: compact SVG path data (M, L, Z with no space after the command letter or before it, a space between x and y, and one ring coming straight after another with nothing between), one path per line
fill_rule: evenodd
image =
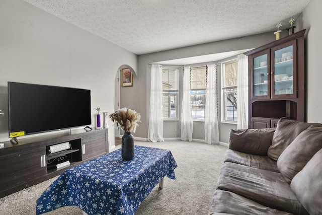
M0 29L0 141L9 140L8 81L90 89L95 127L94 108L114 112L117 69L136 70L135 54L21 0L0 1Z

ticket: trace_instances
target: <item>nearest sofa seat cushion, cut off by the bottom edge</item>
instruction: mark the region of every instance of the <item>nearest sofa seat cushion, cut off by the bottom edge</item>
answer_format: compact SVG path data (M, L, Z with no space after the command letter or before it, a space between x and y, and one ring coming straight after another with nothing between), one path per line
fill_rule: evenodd
M233 192L217 189L211 199L209 213L219 214L289 214L291 213L273 209L257 203L251 199L237 195Z

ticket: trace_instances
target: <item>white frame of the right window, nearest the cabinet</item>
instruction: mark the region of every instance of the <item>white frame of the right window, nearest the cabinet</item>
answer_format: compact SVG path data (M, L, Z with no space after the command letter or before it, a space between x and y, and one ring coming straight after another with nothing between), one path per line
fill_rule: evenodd
M237 116L236 116L236 121L234 120L228 120L227 119L227 94L231 94L231 93L236 93L236 97L237 97L237 84L235 86L229 86L226 87L225 86L225 64L226 63L231 63L231 62L237 62L237 74L238 74L238 59L234 58L234 59L230 59L224 62L221 62L221 122L222 123L229 123L229 124L237 124ZM226 91L226 90L231 90L231 89L235 89L233 91ZM238 102L238 101L237 101ZM236 111L237 111L237 106L236 106ZM236 112L237 114L237 112Z

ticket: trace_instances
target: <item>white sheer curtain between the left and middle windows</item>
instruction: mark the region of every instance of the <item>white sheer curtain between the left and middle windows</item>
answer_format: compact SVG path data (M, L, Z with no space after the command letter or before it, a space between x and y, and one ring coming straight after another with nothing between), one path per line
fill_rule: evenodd
M184 67L183 70L183 94L181 108L181 140L191 141L193 123L191 116L191 98L190 98L190 68Z

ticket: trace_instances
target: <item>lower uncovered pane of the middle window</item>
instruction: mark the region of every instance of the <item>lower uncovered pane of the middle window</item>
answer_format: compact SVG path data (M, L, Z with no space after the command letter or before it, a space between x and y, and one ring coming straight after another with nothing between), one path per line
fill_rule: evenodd
M191 115L193 119L205 118L205 91L191 91Z

